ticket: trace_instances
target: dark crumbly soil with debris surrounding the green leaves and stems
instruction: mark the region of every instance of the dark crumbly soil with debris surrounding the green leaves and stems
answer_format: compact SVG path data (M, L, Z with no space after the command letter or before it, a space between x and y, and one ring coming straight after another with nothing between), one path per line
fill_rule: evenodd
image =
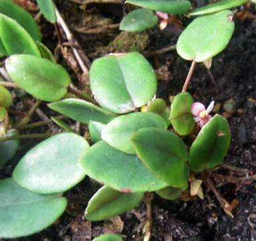
M90 5L86 11L82 11L78 5L70 1L59 2L60 11L64 14L64 18L71 26L78 42L90 60L110 51L121 51L113 42L119 35L118 29L104 30L104 26L119 23L123 11L127 11L127 7L107 4ZM185 24L187 24L186 21L188 20L184 19ZM246 168L256 173L256 20L235 19L235 23L235 34L231 43L222 54L213 60L210 72L214 80L210 78L206 69L198 64L189 91L196 100L204 102L206 105L211 100L215 100L216 106L218 106L216 112L229 118L232 143L225 163ZM53 35L54 28L44 21L41 21L40 24L42 24L44 33L44 43L54 50L57 43L56 35ZM102 26L103 30L99 33L88 34L77 31L77 29L85 31ZM136 37L137 42L143 43L141 46L135 46L135 48L143 53L148 53L164 46L176 44L181 31L178 27L169 25L164 31L159 31L155 27L146 35L145 33L141 35L129 34L129 37L131 37L131 41ZM143 40L138 40L140 37ZM127 48L131 48L129 42L125 43L123 48L126 51ZM153 67L159 70L158 73L167 78L167 80L159 80L157 96L169 100L170 96L174 96L182 89L190 63L179 58L176 52L154 55L149 60ZM64 64L61 59L60 63ZM73 77L75 76L73 75ZM227 107L226 110L223 107L227 100L231 102L229 104L231 110L229 111L227 111ZM0 175L9 175L11 169L12 166L8 166L1 170ZM226 175L230 174L225 170L219 172ZM40 234L18 240L89 241L105 232L119 232L121 227L117 225L117 222L90 223L82 219L88 199L98 188L97 183L86 177L78 187L65 194L70 199L68 212L56 224ZM196 199L193 202L180 200L170 202L155 194L152 241L256 240L255 183L248 183L242 187L228 184L218 189L229 202L234 199L239 202L233 211L234 218L227 216L222 211L212 191L205 186L203 188L204 199ZM124 222L123 232L121 232L124 240L142 240L145 216L145 204L141 204L136 210L121 216Z

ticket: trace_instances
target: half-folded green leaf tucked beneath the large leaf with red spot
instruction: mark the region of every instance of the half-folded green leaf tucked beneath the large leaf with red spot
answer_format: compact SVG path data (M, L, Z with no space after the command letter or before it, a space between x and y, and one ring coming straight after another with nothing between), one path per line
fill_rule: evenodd
M85 218L101 221L132 210L141 202L144 193L122 193L111 187L101 187L93 195L85 210Z

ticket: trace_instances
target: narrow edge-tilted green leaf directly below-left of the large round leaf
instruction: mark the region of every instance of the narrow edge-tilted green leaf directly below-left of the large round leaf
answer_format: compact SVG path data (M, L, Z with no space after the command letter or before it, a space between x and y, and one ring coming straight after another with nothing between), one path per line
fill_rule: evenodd
M115 118L115 115L111 112L104 110L95 104L76 98L60 100L48 104L48 107L72 118L74 121L79 121L84 124L88 124L90 121L107 124Z

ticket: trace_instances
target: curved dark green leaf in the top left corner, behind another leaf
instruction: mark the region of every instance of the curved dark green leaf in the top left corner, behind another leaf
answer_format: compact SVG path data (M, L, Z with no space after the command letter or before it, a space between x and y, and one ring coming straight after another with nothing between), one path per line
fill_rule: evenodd
M17 21L17 23L27 30L27 33L31 35L34 41L41 41L42 35L38 24L22 7L19 7L19 5L10 0L1 0L0 13L3 13L4 15L7 15L7 17Z

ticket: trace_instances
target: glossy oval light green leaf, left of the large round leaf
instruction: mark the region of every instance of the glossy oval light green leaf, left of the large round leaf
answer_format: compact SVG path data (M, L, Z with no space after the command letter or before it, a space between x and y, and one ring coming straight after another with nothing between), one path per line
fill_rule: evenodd
M5 60L5 67L14 82L40 100L60 100L71 82L62 66L28 54L11 56Z

